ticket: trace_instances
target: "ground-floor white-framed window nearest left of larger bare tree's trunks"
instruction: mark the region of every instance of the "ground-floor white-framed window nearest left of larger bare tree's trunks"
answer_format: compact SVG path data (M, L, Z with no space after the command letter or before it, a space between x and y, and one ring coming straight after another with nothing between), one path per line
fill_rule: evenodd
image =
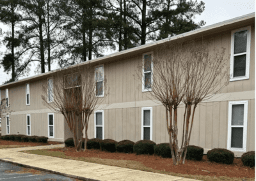
M141 108L141 140L152 141L152 107Z

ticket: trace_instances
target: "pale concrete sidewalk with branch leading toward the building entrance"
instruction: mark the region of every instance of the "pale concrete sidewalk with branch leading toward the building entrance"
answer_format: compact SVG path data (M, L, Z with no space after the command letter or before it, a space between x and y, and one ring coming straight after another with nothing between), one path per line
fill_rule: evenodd
M23 166L34 168L36 170L48 171L67 177L78 178L80 180L106 180L106 181L193 181L195 179L174 177L159 173L147 171L132 170L129 168L120 168L117 166L108 166L96 163L86 163L83 161L74 161L70 159L61 159L58 157L39 156L35 154L26 154L22 150L38 150L48 148L62 148L64 145L49 145L39 147L24 148L6 148L0 149L0 160L8 163L22 164Z

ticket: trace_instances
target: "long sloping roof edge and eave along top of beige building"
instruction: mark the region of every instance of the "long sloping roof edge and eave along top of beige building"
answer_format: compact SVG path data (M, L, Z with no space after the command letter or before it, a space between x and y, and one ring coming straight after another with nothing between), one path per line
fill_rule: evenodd
M51 76L52 73L56 73L56 72L62 71L64 69L75 68L76 66L81 66L81 65L89 64L89 63L93 63L93 62L95 62L95 63L101 63L102 62L103 63L103 62L105 62L109 59L118 59L120 57L124 57L127 54L131 54L131 53L134 53L134 52L141 52L141 51L146 50L150 47L153 48L154 46L160 45L162 43L166 43L167 41L173 41L173 40L186 38L186 37L193 37L193 36L196 36L196 35L205 36L207 34L216 33L216 31L224 31L225 29L229 29L230 27L233 27L234 24L237 24L239 22L252 22L252 21L254 22L255 21L254 18L255 18L255 13L250 13L250 14L247 14L247 15L243 15L241 17L232 18L230 20L225 20L225 21L219 22L217 24L208 25L208 26L202 27L200 29L196 29L194 31L189 31L187 33L182 33L182 34L179 34L177 36L172 36L170 38L165 38L165 39L159 40L159 41L153 41L153 42L147 43L145 45L140 45L139 47L130 48L129 50L123 50L121 52L116 52L116 53L113 53L113 54L105 55L104 57L99 57L99 58L93 59L91 61L81 62L81 63L78 63L76 65L69 66L68 68L54 69L54 70L46 72L46 73L41 73L40 75L30 76L28 78L23 78L21 80L15 81L15 82L6 83L4 85L0 85L0 89L4 89L4 88L7 88L7 87L12 87L13 85L33 81L35 79L39 80L41 78Z

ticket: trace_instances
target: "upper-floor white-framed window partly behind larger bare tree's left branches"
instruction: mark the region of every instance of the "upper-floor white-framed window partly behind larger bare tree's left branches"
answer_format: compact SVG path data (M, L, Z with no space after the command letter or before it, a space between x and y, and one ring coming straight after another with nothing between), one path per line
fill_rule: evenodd
M153 85L153 53L148 52L143 54L143 78L142 78L142 92L152 91Z

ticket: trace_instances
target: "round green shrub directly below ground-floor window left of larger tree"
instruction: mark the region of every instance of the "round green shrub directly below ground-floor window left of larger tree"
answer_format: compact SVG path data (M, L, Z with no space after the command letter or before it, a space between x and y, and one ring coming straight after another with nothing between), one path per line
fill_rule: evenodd
M150 140L140 140L134 143L133 152L139 154L154 154L154 145L156 143Z

